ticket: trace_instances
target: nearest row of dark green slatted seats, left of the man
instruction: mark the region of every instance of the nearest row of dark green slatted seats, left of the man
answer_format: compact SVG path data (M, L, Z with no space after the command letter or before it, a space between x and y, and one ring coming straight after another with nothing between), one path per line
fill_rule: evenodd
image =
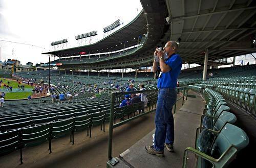
M129 108L127 108L129 107ZM70 141L74 144L74 132L87 130L91 137L91 127L99 126L105 131L105 122L110 119L110 107L99 112L88 113L87 111L57 115L47 118L35 119L22 123L5 125L5 132L0 133L0 156L20 150L20 164L23 163L22 149L49 142L49 150L52 152L51 140L70 135ZM101 108L102 109L102 108ZM92 109L95 110L95 109ZM124 108L114 109L114 119L134 116L137 112L144 112L144 103L140 102ZM83 115L77 115L83 113ZM121 120L120 120L121 121Z

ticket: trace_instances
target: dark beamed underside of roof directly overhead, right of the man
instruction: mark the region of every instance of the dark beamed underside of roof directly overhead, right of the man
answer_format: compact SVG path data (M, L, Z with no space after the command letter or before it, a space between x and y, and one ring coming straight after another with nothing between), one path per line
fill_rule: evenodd
M183 62L203 63L255 53L256 1L168 0L170 40L179 43Z

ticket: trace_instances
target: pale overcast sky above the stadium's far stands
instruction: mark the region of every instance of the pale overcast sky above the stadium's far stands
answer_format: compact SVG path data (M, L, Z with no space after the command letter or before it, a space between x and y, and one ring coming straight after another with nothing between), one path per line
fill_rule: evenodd
M74 46L76 35L95 30L99 40L103 27L117 19L125 25L141 10L139 0L0 0L0 40L31 44L0 41L1 61L12 58L14 50L22 64L47 62L41 53L51 49L51 42L67 38Z

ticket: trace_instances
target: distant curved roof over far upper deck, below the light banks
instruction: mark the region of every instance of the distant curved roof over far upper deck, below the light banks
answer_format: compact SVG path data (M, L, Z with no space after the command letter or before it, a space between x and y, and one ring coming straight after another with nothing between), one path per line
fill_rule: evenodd
M141 11L129 24L96 43L42 54L53 54L57 57L68 57L80 55L80 52L97 54L100 51L100 53L106 53L110 51L110 48L111 51L118 51L123 49L123 43L125 43L125 46L137 45L138 37L146 32L146 20L143 11Z

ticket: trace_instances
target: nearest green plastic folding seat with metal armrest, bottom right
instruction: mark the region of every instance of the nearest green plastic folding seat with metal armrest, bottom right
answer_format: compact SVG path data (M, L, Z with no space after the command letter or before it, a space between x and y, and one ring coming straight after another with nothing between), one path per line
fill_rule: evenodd
M197 156L196 167L226 167L249 144L249 138L242 129L227 123L220 132L203 129L195 144L195 149L185 149L182 167L187 167L188 152Z

